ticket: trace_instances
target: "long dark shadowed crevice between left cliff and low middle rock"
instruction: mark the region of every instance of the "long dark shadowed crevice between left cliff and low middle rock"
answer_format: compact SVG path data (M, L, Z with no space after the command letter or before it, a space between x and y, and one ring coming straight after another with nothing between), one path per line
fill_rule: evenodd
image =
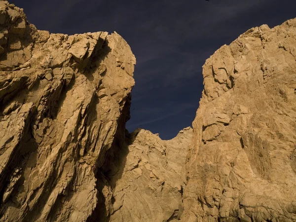
M136 136L132 136L125 129L125 123L130 119L130 100L129 94L118 119L111 148L106 152L103 165L96 172L98 204L87 222L109 222L110 220L114 203L112 191L124 172L126 157L129 153L128 146L136 139Z

